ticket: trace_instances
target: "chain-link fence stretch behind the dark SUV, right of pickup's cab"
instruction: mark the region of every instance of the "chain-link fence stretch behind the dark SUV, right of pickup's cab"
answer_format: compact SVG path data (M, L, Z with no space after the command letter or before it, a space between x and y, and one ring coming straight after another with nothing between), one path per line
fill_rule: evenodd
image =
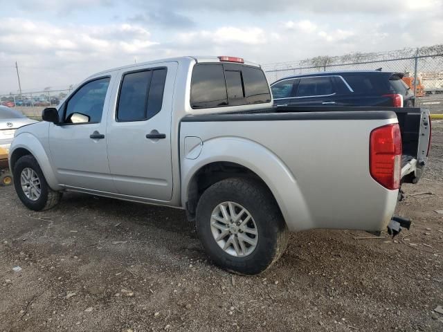
M418 104L443 111L443 45L405 48L381 53L352 53L337 57L320 56L296 62L263 66L270 83L282 77L318 71L376 70L404 73Z

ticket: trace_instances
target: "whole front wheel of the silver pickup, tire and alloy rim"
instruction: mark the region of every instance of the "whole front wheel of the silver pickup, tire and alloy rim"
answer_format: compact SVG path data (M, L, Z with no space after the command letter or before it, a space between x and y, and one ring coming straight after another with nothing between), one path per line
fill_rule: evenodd
M17 196L26 208L48 210L60 202L61 192L49 187L42 169L33 156L22 156L14 167L14 186Z

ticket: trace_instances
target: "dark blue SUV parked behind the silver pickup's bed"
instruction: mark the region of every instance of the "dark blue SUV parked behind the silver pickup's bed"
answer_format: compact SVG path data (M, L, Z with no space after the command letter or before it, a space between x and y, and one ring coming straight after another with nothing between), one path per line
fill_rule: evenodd
M402 77L385 71L311 73L284 77L271 90L276 106L413 107L414 93Z

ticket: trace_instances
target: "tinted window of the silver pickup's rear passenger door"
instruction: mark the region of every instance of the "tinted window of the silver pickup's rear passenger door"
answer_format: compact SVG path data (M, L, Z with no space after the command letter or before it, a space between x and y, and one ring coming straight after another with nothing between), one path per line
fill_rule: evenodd
M118 97L117 120L141 121L159 113L163 103L166 69L127 73Z

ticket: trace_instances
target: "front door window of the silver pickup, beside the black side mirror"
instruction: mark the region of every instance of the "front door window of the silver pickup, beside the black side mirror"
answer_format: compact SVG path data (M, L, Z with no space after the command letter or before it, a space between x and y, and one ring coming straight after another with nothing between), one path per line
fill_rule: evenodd
M78 89L66 103L63 122L73 124L100 122L110 80L109 77L100 78Z

